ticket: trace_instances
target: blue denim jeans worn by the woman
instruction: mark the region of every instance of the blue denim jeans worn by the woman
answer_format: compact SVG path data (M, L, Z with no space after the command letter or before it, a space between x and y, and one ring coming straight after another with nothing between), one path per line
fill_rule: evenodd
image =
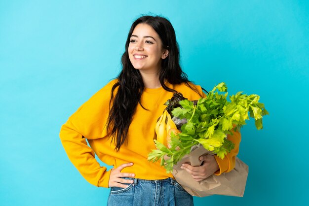
M111 187L108 206L193 206L193 197L173 178L145 180L130 177L127 188Z

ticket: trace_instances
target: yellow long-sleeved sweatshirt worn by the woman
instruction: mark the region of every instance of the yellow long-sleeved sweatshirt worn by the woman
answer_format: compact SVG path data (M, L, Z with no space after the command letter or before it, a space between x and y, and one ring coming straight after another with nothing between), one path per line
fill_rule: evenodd
M95 154L102 162L114 166L114 168L123 163L133 162L133 166L126 167L121 172L135 173L136 178L150 180L173 178L171 173L166 173L164 167L160 166L159 161L152 163L147 160L148 154L152 149L155 149L153 137L156 120L166 107L164 103L173 94L162 87L145 88L141 103L149 110L143 109L139 104L137 105L129 126L127 141L120 147L119 152L116 152L114 142L106 133L111 89L116 81L114 79L100 89L62 125L60 139L69 159L81 175L97 187L108 187L111 171L100 166L95 159ZM172 85L166 82L166 86L181 92L188 100L200 98L184 83ZM197 88L200 94L205 95L200 86L193 86ZM114 94L116 94L116 90ZM233 136L228 136L228 138L235 143L235 148L223 160L215 156L220 168L215 173L216 175L229 172L234 168L240 134L235 132Z

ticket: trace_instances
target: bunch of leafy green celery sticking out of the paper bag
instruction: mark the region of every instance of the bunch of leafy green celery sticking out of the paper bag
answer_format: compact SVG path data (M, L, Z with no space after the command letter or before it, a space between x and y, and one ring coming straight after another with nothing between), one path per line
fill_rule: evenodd
M255 119L258 130L263 129L262 117L269 112L263 103L258 102L260 96L238 92L230 96L229 102L227 90L222 82L206 98L198 101L189 101L181 93L174 93L165 103L167 110L172 117L187 119L187 123L182 124L180 134L171 134L171 148L154 140L157 149L149 154L148 160L155 162L161 159L166 171L172 172L173 165L189 154L193 145L202 145L223 159L234 148L227 135L232 135L232 129L240 130L249 116Z

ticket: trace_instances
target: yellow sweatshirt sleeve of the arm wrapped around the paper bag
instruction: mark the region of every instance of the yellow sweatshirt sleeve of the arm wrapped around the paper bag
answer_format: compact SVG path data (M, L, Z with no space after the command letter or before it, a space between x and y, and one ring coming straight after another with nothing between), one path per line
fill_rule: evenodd
M233 135L228 135L228 139L231 140L235 147L231 150L230 153L226 154L223 159L218 157L217 155L214 155L218 165L219 170L215 172L215 175L220 175L223 172L230 172L235 167L235 157L238 154L239 151L239 144L241 140L240 132L232 130Z

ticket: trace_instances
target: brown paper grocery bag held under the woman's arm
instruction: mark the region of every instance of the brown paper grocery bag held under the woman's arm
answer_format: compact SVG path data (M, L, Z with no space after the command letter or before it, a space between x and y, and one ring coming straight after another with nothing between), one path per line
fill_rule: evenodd
M173 175L176 181L192 196L205 197L210 195L228 195L243 197L248 176L248 166L236 157L235 168L231 172L220 175L212 174L208 178L196 182L191 174L181 169L183 163L191 163L192 166L201 165L199 156L211 154L204 147L195 147L189 155L173 167Z

